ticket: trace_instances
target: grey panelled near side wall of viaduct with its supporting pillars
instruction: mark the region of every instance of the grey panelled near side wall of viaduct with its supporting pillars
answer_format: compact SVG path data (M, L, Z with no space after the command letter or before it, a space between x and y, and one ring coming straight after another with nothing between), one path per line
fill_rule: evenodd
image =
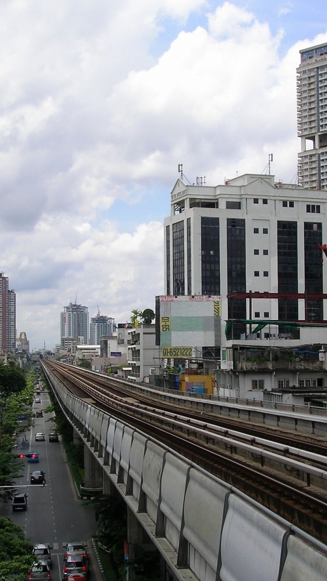
M165 581L327 579L324 544L67 392L43 369L84 442L85 486L124 497L130 555L134 544L153 543L163 557Z

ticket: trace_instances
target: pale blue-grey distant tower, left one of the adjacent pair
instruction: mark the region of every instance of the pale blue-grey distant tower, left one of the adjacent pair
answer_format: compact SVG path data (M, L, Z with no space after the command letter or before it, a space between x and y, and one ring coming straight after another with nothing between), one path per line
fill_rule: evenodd
M66 347L69 342L88 343L89 314L88 307L81 304L69 303L60 313L60 339L62 347Z

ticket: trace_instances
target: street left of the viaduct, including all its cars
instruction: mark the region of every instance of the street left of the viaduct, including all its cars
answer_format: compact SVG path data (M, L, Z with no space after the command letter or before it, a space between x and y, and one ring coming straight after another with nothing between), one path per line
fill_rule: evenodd
M34 425L17 440L17 462L23 465L16 479L19 492L11 504L0 503L0 515L20 525L35 545L27 579L62 581L78 575L80 581L98 581L91 542L94 512L78 498L52 414L44 411L49 403L45 391L34 401Z

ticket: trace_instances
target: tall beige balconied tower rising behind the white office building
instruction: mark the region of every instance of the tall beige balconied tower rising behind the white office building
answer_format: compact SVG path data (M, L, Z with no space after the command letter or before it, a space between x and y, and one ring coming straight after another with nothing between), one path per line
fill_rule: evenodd
M297 134L299 185L327 189L327 42L300 51Z

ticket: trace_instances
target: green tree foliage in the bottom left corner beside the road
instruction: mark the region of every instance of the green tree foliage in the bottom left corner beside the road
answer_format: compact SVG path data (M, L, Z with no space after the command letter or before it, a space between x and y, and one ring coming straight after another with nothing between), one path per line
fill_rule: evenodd
M34 561L33 544L29 543L20 526L0 517L0 579L26 581Z

